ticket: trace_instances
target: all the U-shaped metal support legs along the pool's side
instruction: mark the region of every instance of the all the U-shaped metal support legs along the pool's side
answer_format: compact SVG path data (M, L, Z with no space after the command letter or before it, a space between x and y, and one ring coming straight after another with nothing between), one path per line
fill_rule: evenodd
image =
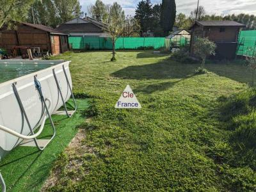
M70 113L70 111L68 111L68 109L67 109L67 105L66 105L65 100L64 100L64 98L63 98L63 95L62 95L62 93L61 93L60 84L59 84L59 82L58 82L58 79L57 79L57 76L56 76L56 73L55 73L54 68L52 69L52 73L53 73L54 79L55 79L55 81L56 81L56 85L57 85L57 87L58 87L58 94L61 95L61 100L62 100L63 106L64 106L64 108L65 108L65 113L66 113L66 115L70 118L70 117L76 112L76 110L77 110L77 104L76 104L76 99L75 99L75 97L74 97L74 93L72 92L72 88L71 88L71 86L70 86L70 82L68 81L68 76L67 76L67 72L66 72L66 70L65 70L65 66L62 65L62 68L63 68L63 72L64 72L64 74L65 74L65 79L66 79L67 84L68 84L68 89L70 90L71 97L72 97L72 100L73 100L73 102L74 102L74 111L71 111L71 113ZM45 103L45 100L47 100L47 99L44 98L44 95L43 95L42 90L41 90L40 82L36 79L36 76L34 76L34 79L35 79L35 86L36 86L36 89L37 89L37 91L38 91L38 93L39 93L39 95L40 95L40 99L42 100L42 104L44 104L44 108L45 108L45 111L46 111L45 117L46 117L46 115L49 117L49 120L50 120L50 122L51 122L52 131L53 131L53 134L52 134L51 139L49 139L49 140L47 141L47 143L46 143L43 147L38 144L38 140L36 139L37 136L35 136L35 132L33 131L33 128L31 127L31 125L30 125L30 123L29 123L28 116L27 116L26 111L25 111L25 109L24 109L24 106L23 106L23 104L22 104L22 102L21 102L21 100L20 100L19 92L18 92L18 90L17 90L17 88L16 88L16 85L15 85L16 83L13 83L13 84L12 84L12 87L13 87L13 92L14 92L14 94L15 94L15 97L16 97L16 99L17 99L17 101L18 101L19 106L20 106L20 111L22 112L22 115L25 117L26 122L28 123L29 129L30 129L30 131L31 131L30 136L31 136L31 138L32 138L33 136L35 136L35 138L32 138L32 140L35 142L35 145L36 145L36 147L38 148L38 150L41 150L41 151L42 151L42 150L45 149L45 147L47 147L47 145L48 145L49 143L51 143L51 141L53 140L53 138L56 136L56 128L55 128L55 126L54 126L54 122L52 121L51 114L49 113L49 109L47 108L47 105L46 105L46 103ZM42 120L42 118L41 118L41 120ZM40 120L40 121L41 121L41 120ZM44 121L45 121L45 120L46 120L46 118L44 118ZM0 127L0 128L1 128L1 127ZM41 129L41 127L40 127L40 129ZM44 127L43 127L42 129L44 129ZM39 131L38 131L38 132L39 132ZM10 133L10 132L9 132L9 133ZM12 134L12 133L10 133L10 134ZM21 138L21 137L20 137L20 138ZM2 186L2 191L3 191L3 192L6 192L6 184L5 184L5 182L4 182L3 176L1 175L1 172L0 172L0 182L1 182L1 186Z

